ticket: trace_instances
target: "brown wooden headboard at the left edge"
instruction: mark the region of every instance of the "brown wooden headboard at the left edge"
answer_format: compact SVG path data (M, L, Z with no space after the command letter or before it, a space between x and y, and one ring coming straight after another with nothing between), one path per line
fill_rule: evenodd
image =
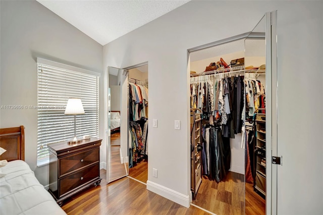
M1 128L0 147L7 150L0 160L25 160L25 127Z

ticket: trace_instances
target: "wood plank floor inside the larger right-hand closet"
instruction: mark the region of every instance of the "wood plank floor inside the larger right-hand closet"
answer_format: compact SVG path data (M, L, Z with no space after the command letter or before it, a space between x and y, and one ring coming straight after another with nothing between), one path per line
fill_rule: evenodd
M193 204L210 212L222 214L265 214L265 200L244 183L244 175L229 172L217 183L203 176Z

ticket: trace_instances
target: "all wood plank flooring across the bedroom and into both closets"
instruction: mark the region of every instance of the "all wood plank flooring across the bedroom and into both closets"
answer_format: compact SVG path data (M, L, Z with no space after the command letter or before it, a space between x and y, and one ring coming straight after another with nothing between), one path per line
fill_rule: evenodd
M118 142L118 135L112 141ZM119 139L120 144L120 139ZM112 181L125 174L120 164L118 144L110 150L110 174ZM183 207L146 189L146 185L129 177L107 184L106 172L100 170L100 186L90 187L67 199L62 208L68 214L209 214L197 207ZM129 176L143 183L148 180L148 160L129 169ZM203 179L194 205L218 215L265 214L265 200L253 191L252 184L244 183L244 176L230 172L223 182Z

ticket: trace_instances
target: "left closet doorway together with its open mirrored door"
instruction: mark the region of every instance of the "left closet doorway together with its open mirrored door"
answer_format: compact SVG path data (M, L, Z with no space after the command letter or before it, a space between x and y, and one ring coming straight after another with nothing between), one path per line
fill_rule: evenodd
M148 180L148 64L109 67L108 183L129 176Z

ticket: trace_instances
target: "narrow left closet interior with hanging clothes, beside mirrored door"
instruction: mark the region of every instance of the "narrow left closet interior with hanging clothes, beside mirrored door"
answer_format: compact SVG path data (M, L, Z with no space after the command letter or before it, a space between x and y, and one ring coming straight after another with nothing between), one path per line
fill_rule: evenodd
M148 180L148 65L128 73L129 177Z

